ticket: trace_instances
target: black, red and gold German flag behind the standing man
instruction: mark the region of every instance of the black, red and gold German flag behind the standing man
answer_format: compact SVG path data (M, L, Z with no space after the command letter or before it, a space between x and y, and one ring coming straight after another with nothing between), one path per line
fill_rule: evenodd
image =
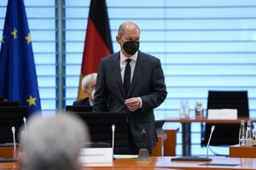
M83 77L97 72L101 59L109 54L113 54L113 48L108 23L107 5L105 0L91 0L79 80L78 99L84 99L85 97L81 87Z

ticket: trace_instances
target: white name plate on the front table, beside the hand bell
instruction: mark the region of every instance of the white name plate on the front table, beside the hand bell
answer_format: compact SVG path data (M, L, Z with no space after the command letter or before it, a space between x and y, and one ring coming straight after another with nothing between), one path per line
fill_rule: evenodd
M79 154L79 163L106 163L113 161L112 148L83 148Z

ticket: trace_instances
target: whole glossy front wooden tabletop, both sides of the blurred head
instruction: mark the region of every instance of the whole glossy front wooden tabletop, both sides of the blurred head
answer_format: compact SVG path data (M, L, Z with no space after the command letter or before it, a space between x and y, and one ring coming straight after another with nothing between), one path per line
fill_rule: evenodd
M171 161L172 157L150 157L151 161L137 161L136 159L116 159L112 163L87 163L81 164L83 169L89 170L166 170L166 169L208 169L208 170L225 170L225 169L255 169L256 159L253 158L229 158L229 157L212 157L211 162L207 161ZM207 164L210 163L210 164ZM202 165L205 164L205 165ZM221 164L214 166L214 164ZM235 164L236 166L228 166ZM1 162L0 170L19 169L17 162Z

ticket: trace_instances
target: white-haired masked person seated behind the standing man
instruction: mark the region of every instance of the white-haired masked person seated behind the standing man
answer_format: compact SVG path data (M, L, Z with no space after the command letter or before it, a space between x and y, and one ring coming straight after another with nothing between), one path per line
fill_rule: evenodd
M87 96L84 99L79 99L73 102L73 105L93 105L95 87L96 87L96 78L97 73L91 73L86 75L82 82L81 86L84 91L84 94Z

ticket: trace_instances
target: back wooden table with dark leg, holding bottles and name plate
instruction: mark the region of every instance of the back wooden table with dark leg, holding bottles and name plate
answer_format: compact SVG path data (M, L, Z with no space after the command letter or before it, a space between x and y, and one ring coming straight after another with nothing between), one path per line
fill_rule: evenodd
M191 123L192 122L207 122L207 123L240 123L241 120L245 120L246 122L248 120L251 120L252 122L256 122L255 117L239 117L236 120L209 120L206 117L204 118L198 118L196 119L195 116L180 119L179 117L171 117L166 116L164 119L162 119L165 122L180 122L182 123L182 140L183 140L183 156L191 156Z

